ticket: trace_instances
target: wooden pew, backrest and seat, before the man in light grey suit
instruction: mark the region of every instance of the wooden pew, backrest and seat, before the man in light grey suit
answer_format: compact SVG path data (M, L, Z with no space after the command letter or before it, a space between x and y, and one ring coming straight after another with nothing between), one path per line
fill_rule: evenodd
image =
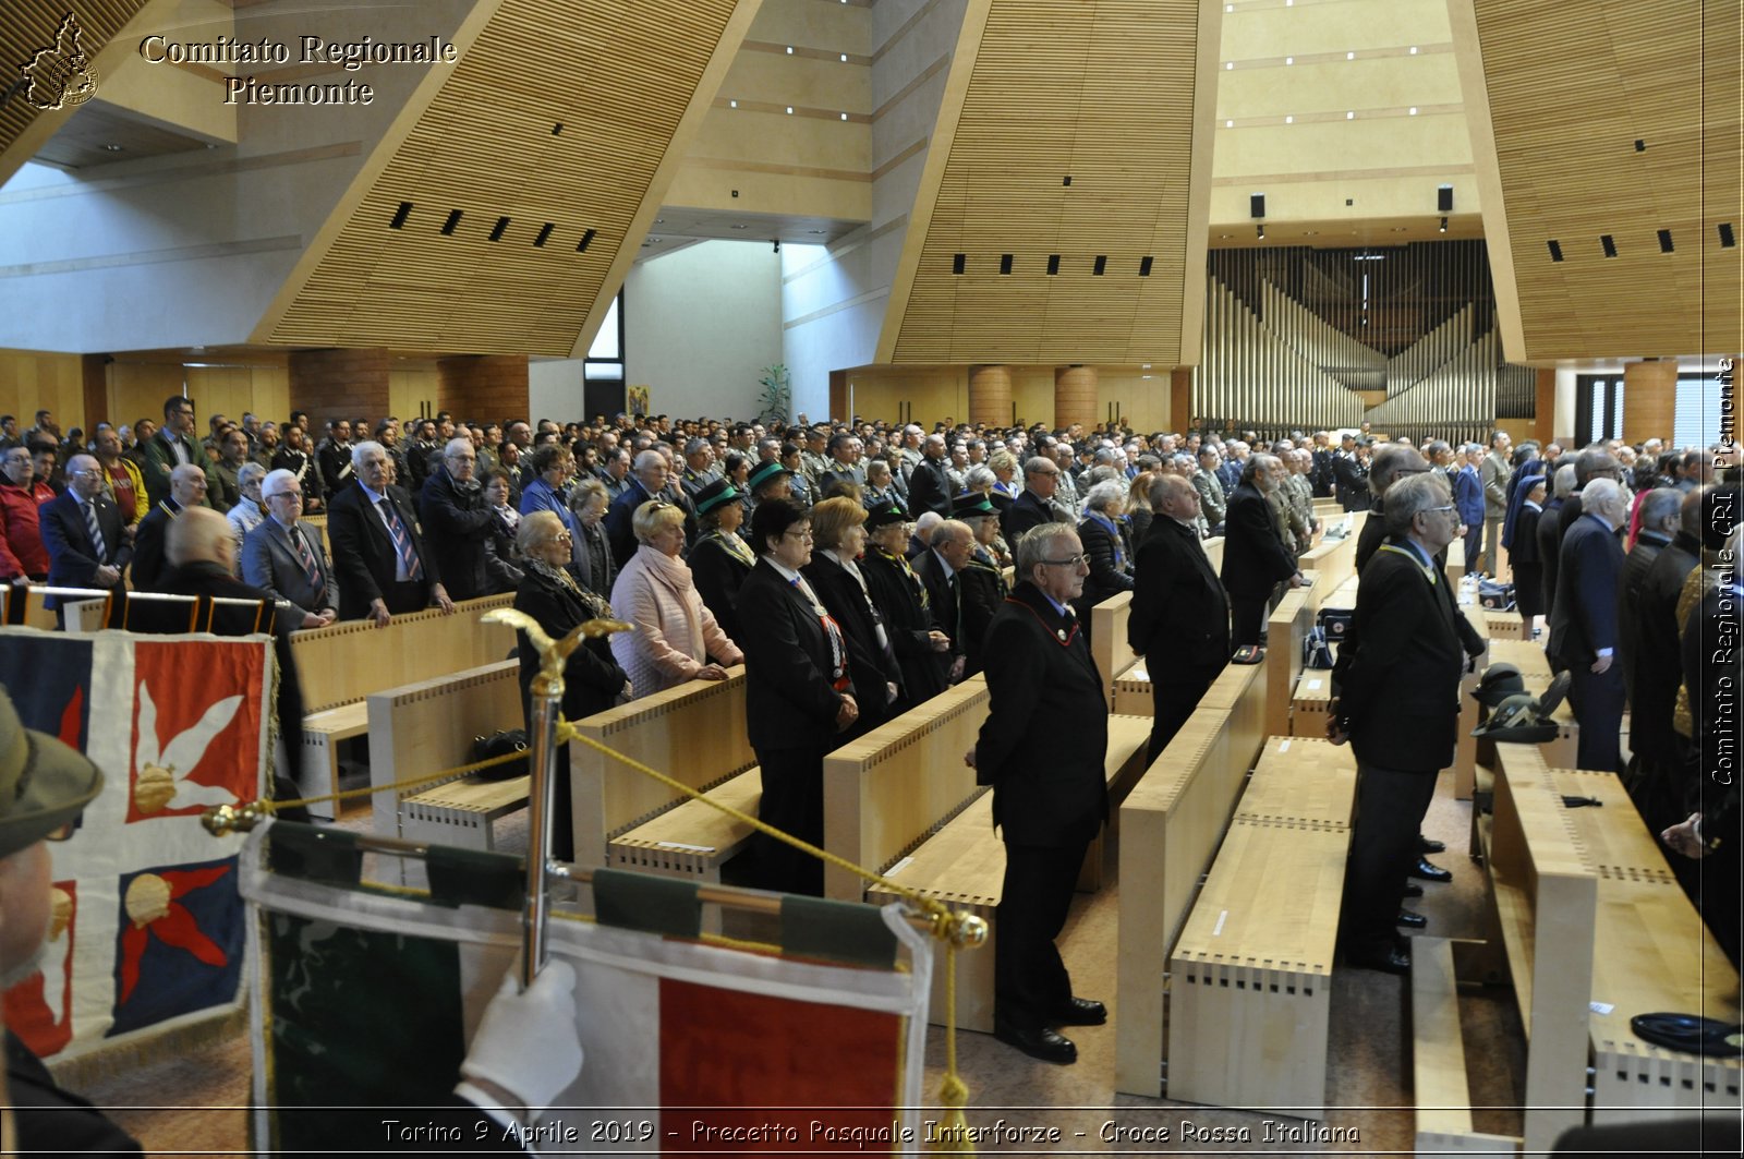
M452 616L426 609L394 616L385 628L371 620L347 620L291 632L303 686L303 789L330 785L330 792L338 792L338 745L368 731L371 693L513 655L514 628L480 620L513 604L513 595L487 595L457 604Z

